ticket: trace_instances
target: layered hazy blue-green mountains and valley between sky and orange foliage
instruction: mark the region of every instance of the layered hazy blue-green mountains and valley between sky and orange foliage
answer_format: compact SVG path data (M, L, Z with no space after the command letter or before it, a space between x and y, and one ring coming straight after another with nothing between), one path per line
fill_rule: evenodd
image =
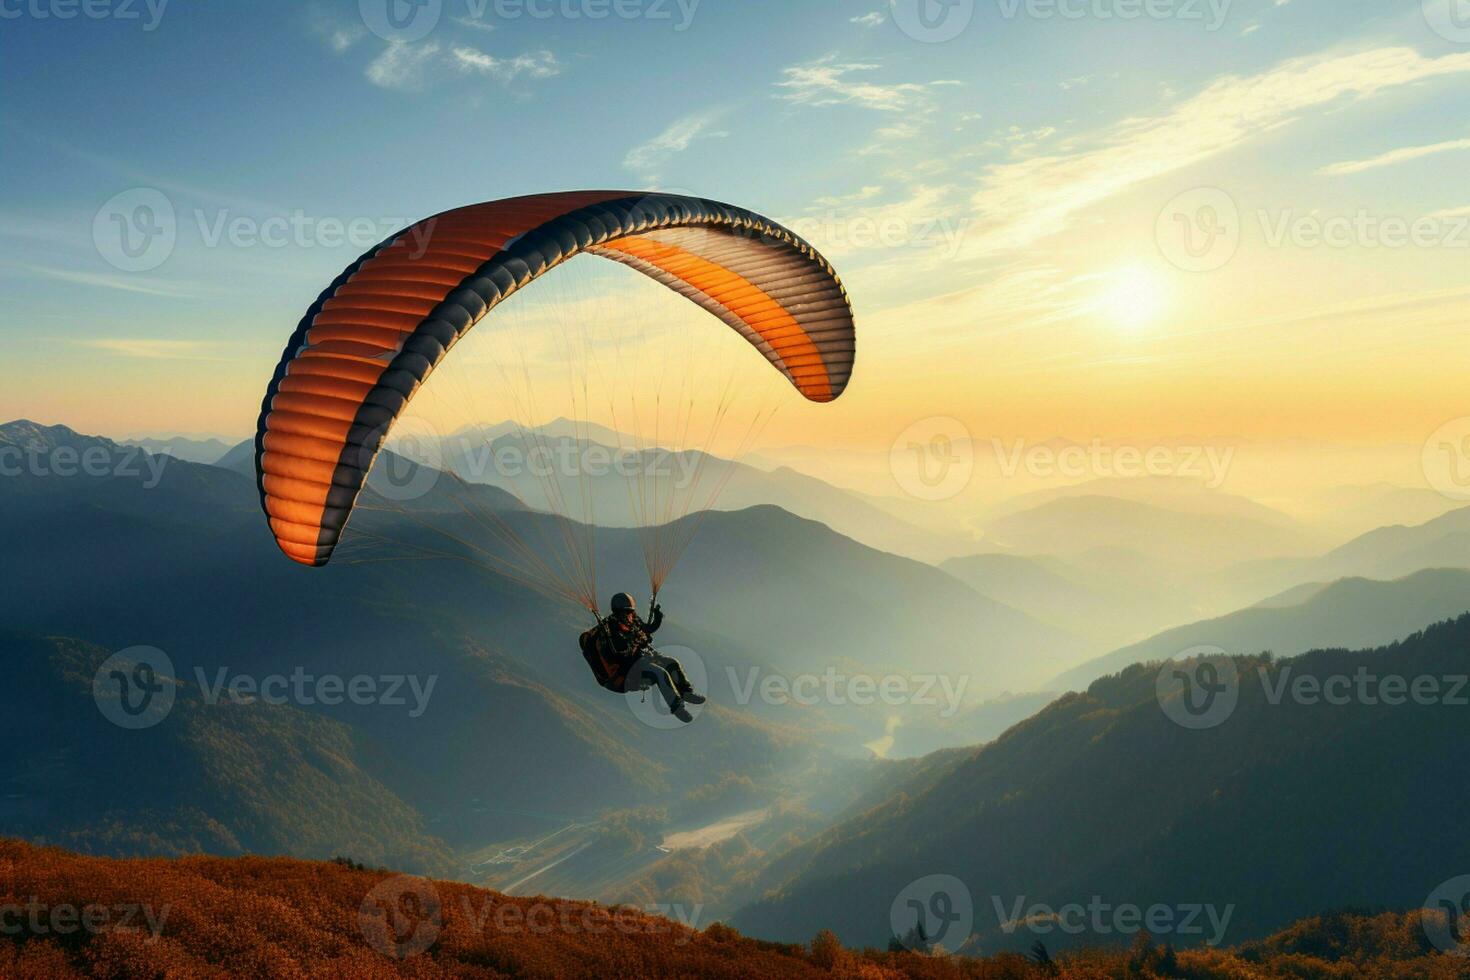
M584 893L601 880L579 877L585 870L607 876L614 898L657 898L698 893L723 876L711 901L744 904L736 921L754 934L800 940L832 926L847 942L875 945L888 940L888 905L920 868L967 882L982 911L992 895L1005 904L1019 895L1223 896L1241 909L1235 942L1320 911L1330 895L1395 908L1417 901L1407 896L1427 871L1404 848L1386 848L1351 876L1329 868L1332 855L1370 846L1367 830L1342 814L1427 835L1432 854L1461 860L1444 832L1408 813L1455 813L1464 802L1457 786L1435 783L1423 752L1413 754L1416 745L1458 743L1458 716L1329 711L1264 695L1283 670L1463 671L1467 620L1369 652L1320 648L1391 644L1470 608L1470 572L1414 567L1452 555L1470 511L1374 530L1316 557L1308 550L1217 567L1210 588L1222 592L1225 580L1242 594L1270 576L1285 585L1250 608L1155 630L1080 670L1107 649L1097 636L1164 616L1163 607L1125 607L1110 620L1129 582L1100 576L1098 554L1154 574L1172 561L1163 544L1138 550L1098 538L1089 548L1055 548L1060 555L991 554L935 567L769 504L710 513L697 519L700 533L662 595L670 620L660 641L700 661L711 704L697 724L669 732L642 724L637 699L589 682L572 646L587 614L516 577L473 561L409 561L391 547L348 548L318 570L285 561L259 510L251 451L196 464L34 423L0 426L4 447L34 460L0 479L0 655L15 664L6 724L21 742L59 732L49 751L0 765L0 829L9 833L98 854L351 852L466 874L469 852L564 827L581 842L626 843L639 827L698 839L700 827L766 808L759 824L719 846L659 857L650 854L656 835L628 845L642 851L622 871L578 858L556 873L528 865L506 882L535 873L528 887ZM409 473L419 466L391 454L382 461ZM497 486L442 478L413 501L373 486L354 517L369 539L412 547L442 530L467 538L476 514L494 514L522 541L553 547L562 526ZM1142 523L1160 510L1117 502ZM1116 513L1083 494L1003 520L1055 544L1030 522L1058 507L1082 508L1063 523L1086 508ZM1291 526L1238 501L1219 508L1223 516L1172 511L1164 526ZM603 527L597 541L600 589L638 591L638 533ZM1405 573L1339 580L1330 573L1341 569ZM1130 664L1205 644L1242 655L1242 707L1220 730L1185 732L1158 710L1158 667ZM103 720L93 692L97 666L135 645L172 658L166 680L176 692L172 714L144 732ZM1267 649L1301 655L1270 660L1260 655ZM760 693L767 679L831 671L963 680L966 696L951 714ZM220 676L295 673L401 677L432 685L432 696L419 714L381 702L206 696ZM1045 693L1066 688L1086 691ZM864 763L869 751L894 761ZM138 768L143 760L168 765ZM126 785L98 783L94 763ZM820 788L828 810L803 813L792 795L803 782ZM651 804L656 817L637 815ZM1289 833L1261 840L1252 836L1260 826ZM1189 851L1195 839L1250 840L1258 855L1226 862ZM1274 889L1272 867L1289 868ZM1225 884L1208 890L1214 880ZM982 923L972 946L1023 937L1007 924Z

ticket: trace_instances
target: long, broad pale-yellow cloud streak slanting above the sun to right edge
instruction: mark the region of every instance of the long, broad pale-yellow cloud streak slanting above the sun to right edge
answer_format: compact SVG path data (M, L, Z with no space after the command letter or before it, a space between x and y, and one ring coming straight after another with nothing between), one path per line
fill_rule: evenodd
M1260 75L1223 78L1164 115L1069 141L1061 153L992 166L972 198L989 231L967 245L972 254L1025 247L1064 229L1086 207L1233 150L1307 110L1460 73L1470 73L1470 53L1424 57L1389 47L1294 59Z

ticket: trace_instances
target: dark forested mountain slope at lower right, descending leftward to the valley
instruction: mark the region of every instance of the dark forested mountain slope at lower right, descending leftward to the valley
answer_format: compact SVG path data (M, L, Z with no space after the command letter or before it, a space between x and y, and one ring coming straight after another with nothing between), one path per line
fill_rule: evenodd
M931 868L979 889L980 949L1030 939L1005 934L991 896L1053 907L1208 898L1235 908L1227 942L1326 907L1417 907L1449 870L1470 867L1470 843L1442 820L1470 802L1470 785L1424 751L1460 743L1470 716L1446 704L1272 704L1266 679L1360 667L1463 676L1467 649L1470 616L1374 651L1238 658L1241 702L1201 732L1160 710L1155 667L1130 667L798 848L786 880L734 921L792 937L822 920L845 942L881 942L888 904Z

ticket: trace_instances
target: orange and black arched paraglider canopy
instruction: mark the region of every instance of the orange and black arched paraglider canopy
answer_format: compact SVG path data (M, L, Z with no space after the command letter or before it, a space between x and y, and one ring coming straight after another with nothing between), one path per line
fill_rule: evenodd
M388 429L503 300L581 253L629 266L744 336L803 397L847 386L853 311L831 264L753 212L569 191L428 217L350 264L306 311L262 404L256 472L281 550L326 564Z

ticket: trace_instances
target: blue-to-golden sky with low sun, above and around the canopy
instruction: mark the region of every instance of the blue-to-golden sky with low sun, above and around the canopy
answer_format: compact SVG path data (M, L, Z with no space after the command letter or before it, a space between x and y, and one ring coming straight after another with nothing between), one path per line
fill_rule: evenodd
M0 84L6 419L248 435L366 247L604 187L842 275L851 386L773 442L1467 414L1463 0L0 0Z

